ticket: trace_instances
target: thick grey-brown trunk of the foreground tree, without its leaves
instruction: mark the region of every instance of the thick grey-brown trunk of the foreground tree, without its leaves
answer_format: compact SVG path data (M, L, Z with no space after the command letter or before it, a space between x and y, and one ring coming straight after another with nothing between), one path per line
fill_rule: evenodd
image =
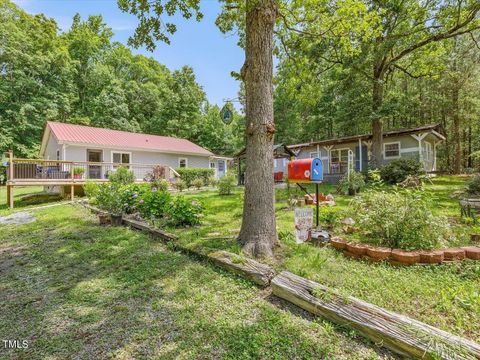
M254 257L271 257L277 243L273 182L272 50L274 0L247 0L245 64L246 171L239 243Z

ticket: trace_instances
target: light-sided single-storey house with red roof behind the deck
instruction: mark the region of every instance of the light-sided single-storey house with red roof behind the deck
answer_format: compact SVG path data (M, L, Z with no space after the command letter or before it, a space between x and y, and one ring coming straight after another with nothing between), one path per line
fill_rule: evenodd
M152 165L212 168L215 176L222 178L229 160L186 139L59 122L47 122L40 156L85 163L84 179L104 179L119 164L130 168L138 180L151 171Z

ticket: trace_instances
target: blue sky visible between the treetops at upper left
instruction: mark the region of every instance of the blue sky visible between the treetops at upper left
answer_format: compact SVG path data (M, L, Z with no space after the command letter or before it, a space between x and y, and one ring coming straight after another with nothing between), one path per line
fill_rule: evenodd
M114 40L127 43L133 34L136 18L121 12L115 0L15 0L20 8L30 14L43 13L54 18L62 30L67 30L75 13L82 18L88 15L102 15L114 31ZM201 22L174 19L177 32L171 36L171 45L157 43L151 53L145 49L132 49L134 53L153 56L157 61L175 70L183 65L191 66L197 82L203 87L211 103L223 104L223 99L236 98L239 82L230 76L231 71L239 71L244 52L237 46L235 34L224 35L215 26L215 18L220 12L216 0L202 0Z

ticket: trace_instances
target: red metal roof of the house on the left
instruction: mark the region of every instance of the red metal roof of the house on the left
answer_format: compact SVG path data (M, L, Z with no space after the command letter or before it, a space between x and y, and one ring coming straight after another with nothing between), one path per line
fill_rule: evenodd
M86 145L114 146L128 149L155 150L167 153L184 153L211 156L213 153L189 140L169 136L131 133L127 131L95 128L91 126L47 122L60 142Z

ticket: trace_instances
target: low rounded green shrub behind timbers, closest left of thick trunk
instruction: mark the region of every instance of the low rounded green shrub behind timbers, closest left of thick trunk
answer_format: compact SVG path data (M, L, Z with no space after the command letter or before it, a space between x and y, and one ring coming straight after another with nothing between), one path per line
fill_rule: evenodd
M171 226L192 226L200 224L203 206L197 200L177 196L166 209L166 221Z

